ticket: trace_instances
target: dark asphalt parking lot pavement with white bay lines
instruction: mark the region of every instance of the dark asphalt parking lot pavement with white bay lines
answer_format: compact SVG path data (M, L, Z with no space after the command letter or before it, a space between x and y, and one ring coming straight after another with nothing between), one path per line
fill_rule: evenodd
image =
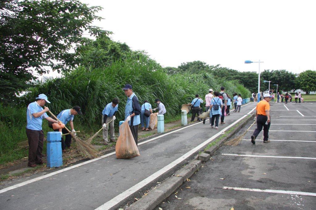
M315 209L314 106L271 104L270 143L261 132L252 145L254 124L240 145L222 146L156 209Z

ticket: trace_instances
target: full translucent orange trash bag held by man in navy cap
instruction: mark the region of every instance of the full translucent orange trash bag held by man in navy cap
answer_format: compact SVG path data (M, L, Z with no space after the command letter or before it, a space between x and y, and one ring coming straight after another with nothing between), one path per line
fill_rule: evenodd
M128 159L140 156L128 122L119 127L119 138L115 145L116 158Z

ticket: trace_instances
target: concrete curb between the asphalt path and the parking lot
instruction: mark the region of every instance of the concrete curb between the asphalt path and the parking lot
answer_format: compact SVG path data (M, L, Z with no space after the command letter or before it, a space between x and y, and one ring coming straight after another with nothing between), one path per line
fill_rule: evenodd
M254 115L253 115L254 116ZM158 187L153 190L150 190L148 195L143 196L138 201L134 202L129 206L128 210L152 210L159 203L169 197L175 190L177 190L188 178L190 178L201 166L202 160L209 160L210 155L213 154L227 139L234 135L240 128L242 128L248 121L253 120L252 117L249 117L247 120L242 122L233 132L221 141L217 142L216 145L212 146L209 150L206 150L205 153L201 154L201 158L198 157L198 160L193 160L185 165L182 169L170 177Z

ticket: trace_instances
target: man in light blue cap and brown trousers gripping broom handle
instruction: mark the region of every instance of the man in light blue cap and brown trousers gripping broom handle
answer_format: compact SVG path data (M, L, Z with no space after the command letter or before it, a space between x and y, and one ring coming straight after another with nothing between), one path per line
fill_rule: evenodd
M46 111L49 111L48 107L42 108L47 103L51 103L47 100L45 94L40 94L36 98L36 101L30 103L27 106L26 119L26 135L28 139L28 163L29 167L36 167L36 164L43 164L42 151L44 142L44 132L42 129L43 118L49 122L58 121L52 119L46 115Z

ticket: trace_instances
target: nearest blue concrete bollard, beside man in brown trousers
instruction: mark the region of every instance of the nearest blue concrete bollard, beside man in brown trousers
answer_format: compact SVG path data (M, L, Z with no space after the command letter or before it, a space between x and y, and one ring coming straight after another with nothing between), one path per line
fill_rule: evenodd
M60 167L63 165L61 151L61 135L59 132L47 133L47 167Z

